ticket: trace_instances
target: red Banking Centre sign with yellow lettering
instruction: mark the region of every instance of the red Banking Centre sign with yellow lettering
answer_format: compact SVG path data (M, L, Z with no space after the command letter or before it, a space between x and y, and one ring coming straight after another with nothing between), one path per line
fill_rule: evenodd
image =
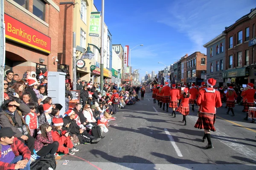
M51 38L27 26L15 18L4 14L6 38L51 53Z

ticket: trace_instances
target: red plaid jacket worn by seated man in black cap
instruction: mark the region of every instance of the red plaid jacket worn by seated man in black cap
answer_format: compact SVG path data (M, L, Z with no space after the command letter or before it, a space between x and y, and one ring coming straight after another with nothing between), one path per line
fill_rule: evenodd
M1 144L0 144L1 146ZM15 154L15 156L22 155L23 159L27 158L30 159L30 150L29 148L23 144L19 139L16 137L14 138L13 144L11 144L12 152ZM2 148L0 148L1 151ZM1 155L0 155L1 158ZM14 170L15 164L9 164L6 162L0 161L0 170Z

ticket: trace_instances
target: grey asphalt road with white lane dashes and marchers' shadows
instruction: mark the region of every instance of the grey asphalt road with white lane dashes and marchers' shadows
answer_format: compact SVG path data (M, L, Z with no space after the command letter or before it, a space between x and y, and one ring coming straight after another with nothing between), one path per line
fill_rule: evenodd
M214 148L201 142L204 131L194 127L197 113L190 109L187 125L182 115L171 116L153 103L152 94L117 113L98 144L80 144L74 156L65 155L57 170L255 170L256 123L244 121L242 106L235 115L217 109ZM225 105L225 104L224 104ZM197 106L195 106L197 108ZM69 160L67 165L62 165Z

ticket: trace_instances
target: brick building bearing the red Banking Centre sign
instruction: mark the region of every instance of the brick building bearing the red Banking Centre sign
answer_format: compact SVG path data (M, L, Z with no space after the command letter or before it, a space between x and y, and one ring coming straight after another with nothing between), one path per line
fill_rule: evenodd
M5 0L6 65L22 78L36 64L57 71L59 0ZM54 58L53 58L54 57Z

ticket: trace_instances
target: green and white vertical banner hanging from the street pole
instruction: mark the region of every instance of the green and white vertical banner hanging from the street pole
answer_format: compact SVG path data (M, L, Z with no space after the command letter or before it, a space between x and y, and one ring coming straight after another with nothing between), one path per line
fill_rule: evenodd
M100 12L91 12L89 36L99 37Z

